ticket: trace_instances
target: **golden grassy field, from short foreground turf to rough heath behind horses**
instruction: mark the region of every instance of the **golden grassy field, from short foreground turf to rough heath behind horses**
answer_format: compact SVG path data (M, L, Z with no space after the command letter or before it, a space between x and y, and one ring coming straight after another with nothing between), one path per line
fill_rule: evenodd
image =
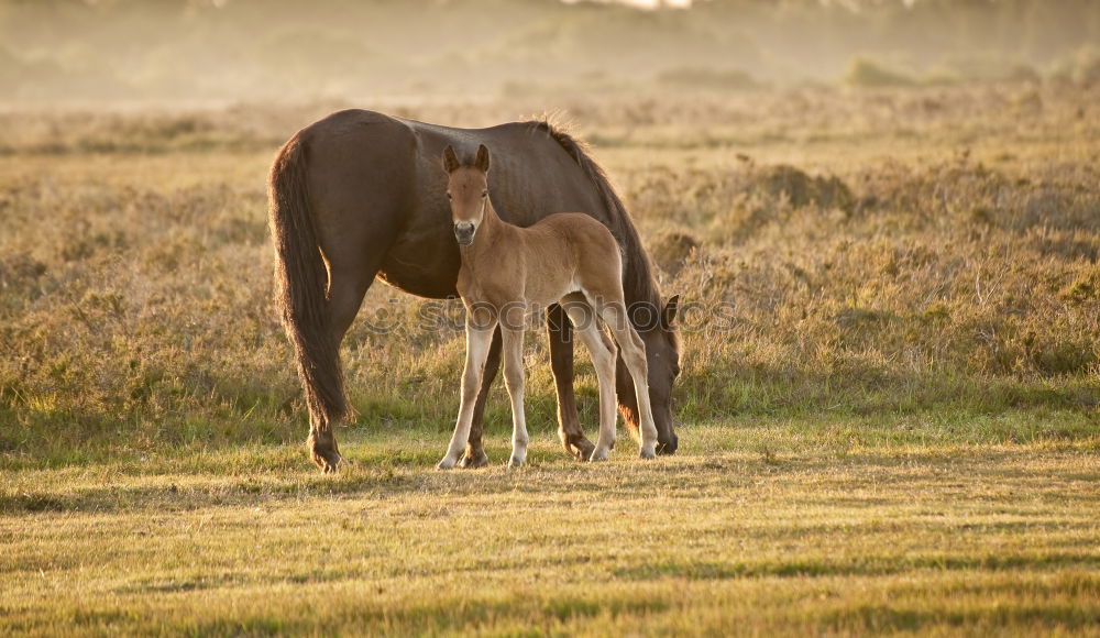
M0 112L0 632L1100 634L1098 103L559 105L688 305L681 453L566 460L532 336L530 466L501 466L501 387L497 465L436 472L461 332L378 284L332 477L271 305L264 178L343 105ZM579 393L593 431L586 363Z

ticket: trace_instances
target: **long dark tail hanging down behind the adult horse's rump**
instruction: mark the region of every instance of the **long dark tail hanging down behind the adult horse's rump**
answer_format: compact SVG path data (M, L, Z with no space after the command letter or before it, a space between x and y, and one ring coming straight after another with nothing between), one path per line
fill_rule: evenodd
M328 272L306 186L306 148L295 135L279 151L268 178L275 302L294 344L312 427L323 431L348 414L348 399L339 343L329 326Z

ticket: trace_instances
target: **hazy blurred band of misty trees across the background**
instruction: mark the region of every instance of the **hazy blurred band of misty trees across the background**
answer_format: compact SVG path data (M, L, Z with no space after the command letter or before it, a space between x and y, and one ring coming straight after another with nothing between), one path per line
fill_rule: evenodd
M3 0L0 100L1100 76L1094 0Z

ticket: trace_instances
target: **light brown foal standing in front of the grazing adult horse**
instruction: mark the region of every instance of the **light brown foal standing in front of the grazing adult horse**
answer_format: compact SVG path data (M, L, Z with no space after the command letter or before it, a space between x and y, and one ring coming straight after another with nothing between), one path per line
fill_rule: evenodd
M466 307L466 363L462 403L447 455L437 465L459 462L470 438L474 403L493 341L501 326L504 380L512 397L512 460L527 461L524 416L524 329L530 308L560 304L592 353L600 382L600 436L592 461L607 459L615 446L615 343L600 329L610 328L634 380L640 411L642 459L656 457L657 428L649 404L646 346L627 317L623 296L623 256L604 224L579 212L554 213L530 228L503 221L488 195L488 148L481 145L473 165L459 162L454 148L443 151L449 179L454 237L462 254L458 290Z

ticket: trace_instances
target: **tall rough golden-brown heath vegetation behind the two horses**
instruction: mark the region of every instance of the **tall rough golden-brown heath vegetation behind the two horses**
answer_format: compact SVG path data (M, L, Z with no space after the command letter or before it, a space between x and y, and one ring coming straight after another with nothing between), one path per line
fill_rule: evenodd
M572 105L606 138L598 154L662 285L688 304L682 420L823 406L1094 418L1096 96L1033 87L1024 110L1002 108L1020 90ZM486 123L516 107L464 108L396 110ZM0 410L23 427L0 441L15 458L299 436L267 301L263 175L316 113L246 112L7 116ZM182 121L201 139L173 142ZM88 151L102 140L134 146ZM450 419L461 340L426 311L369 295L362 317L397 329L361 321L345 342L362 422ZM457 304L432 311L461 318ZM546 418L548 375L534 372Z

